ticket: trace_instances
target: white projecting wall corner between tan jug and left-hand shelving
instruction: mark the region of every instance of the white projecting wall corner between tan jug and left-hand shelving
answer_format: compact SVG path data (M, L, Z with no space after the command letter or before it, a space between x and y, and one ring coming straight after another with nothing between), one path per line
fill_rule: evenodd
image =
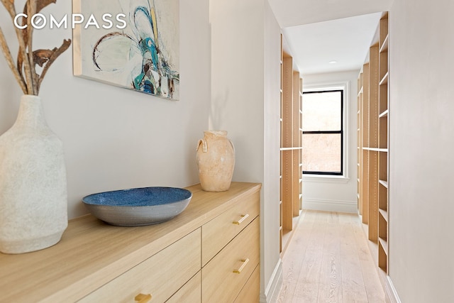
M210 21L210 128L236 145L233 180L262 183L260 299L270 302L280 273L280 29L267 0L211 0Z

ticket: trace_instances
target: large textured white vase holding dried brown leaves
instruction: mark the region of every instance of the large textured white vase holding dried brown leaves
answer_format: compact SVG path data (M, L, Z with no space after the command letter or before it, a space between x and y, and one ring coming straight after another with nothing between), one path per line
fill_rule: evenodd
M0 136L0 251L48 248L67 228L62 141L48 127L40 97L21 97L14 125Z

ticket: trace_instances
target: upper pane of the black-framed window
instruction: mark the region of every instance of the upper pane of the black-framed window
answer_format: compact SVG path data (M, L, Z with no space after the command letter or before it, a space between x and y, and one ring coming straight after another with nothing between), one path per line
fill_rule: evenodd
M303 131L341 131L342 92L306 92Z

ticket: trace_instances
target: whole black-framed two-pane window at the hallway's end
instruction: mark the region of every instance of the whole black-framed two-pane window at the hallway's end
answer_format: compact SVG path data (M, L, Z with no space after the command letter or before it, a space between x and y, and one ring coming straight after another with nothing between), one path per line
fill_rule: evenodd
M303 173L343 175L344 89L303 93Z

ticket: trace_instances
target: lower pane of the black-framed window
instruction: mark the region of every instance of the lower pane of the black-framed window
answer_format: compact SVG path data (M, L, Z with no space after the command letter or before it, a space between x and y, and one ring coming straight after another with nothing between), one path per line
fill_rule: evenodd
M341 134L303 135L303 170L341 172Z

